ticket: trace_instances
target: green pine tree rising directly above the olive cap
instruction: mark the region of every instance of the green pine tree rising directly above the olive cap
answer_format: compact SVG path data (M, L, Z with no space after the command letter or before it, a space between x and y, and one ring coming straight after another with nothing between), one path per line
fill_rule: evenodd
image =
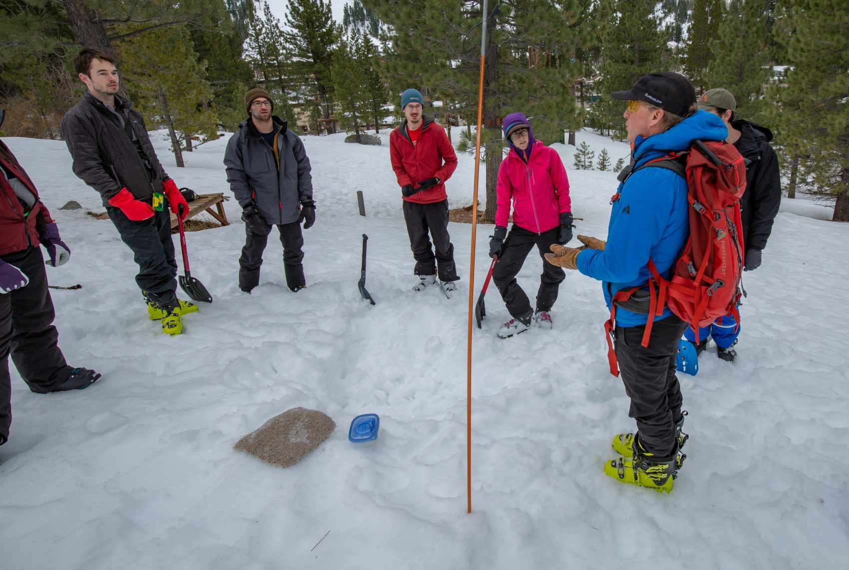
M717 36L710 42L707 88L724 87L737 99L736 115L763 122L763 86L770 75L771 30L762 0L732 0Z

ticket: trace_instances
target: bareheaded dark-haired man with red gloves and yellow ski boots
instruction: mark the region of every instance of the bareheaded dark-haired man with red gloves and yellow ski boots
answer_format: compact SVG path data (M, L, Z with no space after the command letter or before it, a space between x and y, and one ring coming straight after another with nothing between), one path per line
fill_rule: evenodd
M100 193L121 240L132 250L139 267L136 283L150 319L161 319L166 335L179 335L181 315L198 308L177 299L177 261L165 202L183 218L188 205L162 169L142 116L116 94L115 60L84 48L74 67L88 88L62 119L74 173Z

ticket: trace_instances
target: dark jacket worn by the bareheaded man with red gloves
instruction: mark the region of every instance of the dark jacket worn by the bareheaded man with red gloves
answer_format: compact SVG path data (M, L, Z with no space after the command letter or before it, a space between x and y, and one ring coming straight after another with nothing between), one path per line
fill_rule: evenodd
M62 138L74 159L74 173L100 193L104 206L109 206L110 198L125 187L138 200L149 202L154 192L162 191L162 183L168 179L150 143L142 116L131 106L129 101L115 96L115 110L127 117L136 133L153 180L121 121L91 93L83 93L82 101L62 119Z

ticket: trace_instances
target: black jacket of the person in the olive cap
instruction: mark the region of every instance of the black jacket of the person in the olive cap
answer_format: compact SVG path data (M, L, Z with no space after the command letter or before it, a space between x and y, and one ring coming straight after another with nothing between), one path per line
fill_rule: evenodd
M734 121L731 126L740 132L734 147L745 159L745 192L740 199L743 245L746 250L762 250L781 204L779 159L769 145L773 133L749 121Z

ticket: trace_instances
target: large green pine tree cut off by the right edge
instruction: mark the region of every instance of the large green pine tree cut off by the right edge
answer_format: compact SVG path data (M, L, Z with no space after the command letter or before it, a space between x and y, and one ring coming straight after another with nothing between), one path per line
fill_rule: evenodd
M849 14L841 0L780 4L785 37L786 87L780 112L793 121L781 133L801 155L817 192L834 196L834 219L849 222Z

